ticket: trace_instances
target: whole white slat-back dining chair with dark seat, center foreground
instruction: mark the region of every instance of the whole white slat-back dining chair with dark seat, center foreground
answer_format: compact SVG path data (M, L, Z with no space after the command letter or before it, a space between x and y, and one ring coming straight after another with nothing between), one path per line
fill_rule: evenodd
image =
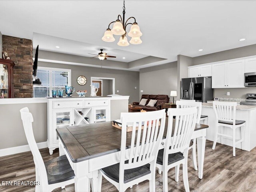
M156 158L163 138L165 119L165 109L121 113L120 163L100 170L99 191L104 176L119 192L144 180L149 180L149 191L155 192ZM127 126L132 126L132 132L126 132Z

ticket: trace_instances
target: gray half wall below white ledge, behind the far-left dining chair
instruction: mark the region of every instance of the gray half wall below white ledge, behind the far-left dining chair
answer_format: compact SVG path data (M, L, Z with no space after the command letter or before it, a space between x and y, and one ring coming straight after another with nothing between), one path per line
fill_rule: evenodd
M27 145L25 132L20 118L20 109L28 107L33 115L33 131L36 142L47 140L47 104L1 104L0 149Z

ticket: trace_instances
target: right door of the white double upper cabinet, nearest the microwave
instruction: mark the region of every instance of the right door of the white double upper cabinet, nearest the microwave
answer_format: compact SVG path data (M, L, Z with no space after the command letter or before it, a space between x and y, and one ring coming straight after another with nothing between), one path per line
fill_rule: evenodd
M244 59L227 63L228 88L244 88Z

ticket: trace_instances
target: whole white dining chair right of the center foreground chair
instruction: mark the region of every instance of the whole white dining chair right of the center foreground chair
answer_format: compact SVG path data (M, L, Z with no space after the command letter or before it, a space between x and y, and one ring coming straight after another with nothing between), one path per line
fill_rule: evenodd
M156 167L163 172L163 191L168 191L168 170L175 167L175 181L178 182L180 164L182 164L183 182L186 192L188 184L188 148L196 126L197 108L169 108L168 117L175 116L175 128L172 132L173 118L168 118L168 129L164 149L159 150Z

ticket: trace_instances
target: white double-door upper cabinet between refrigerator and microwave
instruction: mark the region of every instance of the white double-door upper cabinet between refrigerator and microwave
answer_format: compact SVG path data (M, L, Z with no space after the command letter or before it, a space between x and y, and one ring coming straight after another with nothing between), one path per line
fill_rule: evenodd
M244 88L244 59L212 64L212 88Z

